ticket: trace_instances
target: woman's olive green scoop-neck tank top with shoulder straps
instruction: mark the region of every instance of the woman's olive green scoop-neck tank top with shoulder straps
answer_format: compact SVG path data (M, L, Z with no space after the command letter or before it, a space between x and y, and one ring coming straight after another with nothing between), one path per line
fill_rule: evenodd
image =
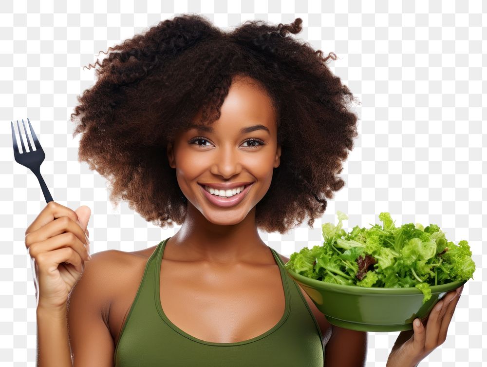
M147 261L115 348L115 367L323 367L318 322L273 249L286 300L284 314L273 328L241 342L214 343L171 323L159 292L161 261L169 238L157 245Z

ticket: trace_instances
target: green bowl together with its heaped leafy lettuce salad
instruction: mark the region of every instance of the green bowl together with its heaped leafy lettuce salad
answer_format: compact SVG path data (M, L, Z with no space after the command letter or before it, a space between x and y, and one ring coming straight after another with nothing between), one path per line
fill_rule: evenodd
M436 224L396 227L389 212L382 225L322 225L323 245L304 247L284 265L332 324L358 331L412 330L446 293L473 278L468 242L449 241Z

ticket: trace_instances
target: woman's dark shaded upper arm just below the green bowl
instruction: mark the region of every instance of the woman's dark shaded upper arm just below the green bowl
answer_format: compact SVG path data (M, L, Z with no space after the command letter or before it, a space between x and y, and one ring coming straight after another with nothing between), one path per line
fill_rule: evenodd
M367 332L332 326L325 346L326 367L363 367L367 359Z

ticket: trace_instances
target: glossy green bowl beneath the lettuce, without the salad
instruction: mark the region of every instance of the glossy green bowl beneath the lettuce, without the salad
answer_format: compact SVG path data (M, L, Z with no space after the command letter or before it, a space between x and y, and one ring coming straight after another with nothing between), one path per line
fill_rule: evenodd
M374 288L322 282L287 269L330 324L357 331L412 330L412 321L426 317L447 292L467 281L431 286L431 298L423 305L423 293L415 287Z

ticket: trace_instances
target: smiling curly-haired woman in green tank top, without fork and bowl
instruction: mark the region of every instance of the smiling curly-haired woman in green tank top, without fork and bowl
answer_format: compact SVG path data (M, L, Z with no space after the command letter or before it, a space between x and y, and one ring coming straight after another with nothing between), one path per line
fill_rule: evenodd
M336 174L356 136L353 96L324 65L333 54L286 37L300 24L224 33L183 15L97 62L73 114L80 160L109 178L113 201L181 228L91 261L89 208L49 203L25 241L39 366L364 365L366 333L332 327L258 233L312 226L323 195L344 185ZM428 333L402 332L388 366L415 366L441 344L443 315Z

